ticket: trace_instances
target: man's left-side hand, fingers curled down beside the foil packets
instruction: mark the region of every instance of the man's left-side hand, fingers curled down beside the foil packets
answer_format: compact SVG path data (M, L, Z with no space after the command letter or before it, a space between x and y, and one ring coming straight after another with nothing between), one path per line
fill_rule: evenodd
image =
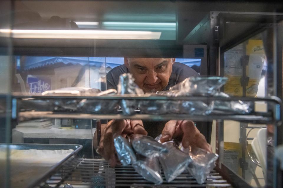
M116 157L113 138L119 135L126 137L131 134L147 135L141 120L111 120L104 131L101 129L101 139L98 146L99 154L110 163L111 167L119 164Z

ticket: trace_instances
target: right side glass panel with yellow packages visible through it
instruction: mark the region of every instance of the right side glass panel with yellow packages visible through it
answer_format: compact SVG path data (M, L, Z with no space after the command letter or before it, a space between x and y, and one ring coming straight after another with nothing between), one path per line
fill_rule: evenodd
M226 26L233 27L234 24L235 22L228 22ZM266 43L270 43L272 38L266 37L267 32L254 35L224 52L223 72L224 76L228 77L228 82L224 85L225 93L230 96L249 97L274 95L276 86L271 90L267 89L273 84L272 79L268 79L270 78L268 71L272 71L270 70L272 61L270 62L270 54L268 54L271 46ZM269 58L266 57L266 51ZM267 112L266 103L255 103L255 110ZM273 125L269 126L273 127ZM272 184L270 174L273 172L267 169L266 156L274 157L273 145L269 143L274 142L274 138L273 133L266 131L266 127L267 125L224 121L223 163L253 187ZM266 154L266 149L269 150L269 154ZM269 163L269 168L272 165Z

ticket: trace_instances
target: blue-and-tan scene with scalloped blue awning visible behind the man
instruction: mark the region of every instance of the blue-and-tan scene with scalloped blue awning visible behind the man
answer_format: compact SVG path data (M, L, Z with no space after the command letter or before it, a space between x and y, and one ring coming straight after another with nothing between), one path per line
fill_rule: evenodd
M42 93L67 87L106 90L106 73L124 64L119 57L15 56L14 92ZM200 59L177 58L200 72Z

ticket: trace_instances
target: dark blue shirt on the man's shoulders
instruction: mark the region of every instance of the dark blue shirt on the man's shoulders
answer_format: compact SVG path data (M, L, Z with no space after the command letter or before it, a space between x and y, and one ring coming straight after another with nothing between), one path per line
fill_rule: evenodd
M125 65L120 65L113 68L107 73L107 89L116 89L119 81L119 76L124 73L129 73L128 68ZM190 68L189 66L175 62L172 66L172 73L169 78L167 87L164 90L169 90L170 87L176 85L179 82L182 82L190 76L198 76L199 74Z

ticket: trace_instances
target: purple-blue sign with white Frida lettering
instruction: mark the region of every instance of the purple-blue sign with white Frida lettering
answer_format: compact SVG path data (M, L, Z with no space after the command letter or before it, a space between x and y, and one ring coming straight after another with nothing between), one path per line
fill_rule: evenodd
M51 90L51 78L48 77L27 77L30 93L42 93Z

